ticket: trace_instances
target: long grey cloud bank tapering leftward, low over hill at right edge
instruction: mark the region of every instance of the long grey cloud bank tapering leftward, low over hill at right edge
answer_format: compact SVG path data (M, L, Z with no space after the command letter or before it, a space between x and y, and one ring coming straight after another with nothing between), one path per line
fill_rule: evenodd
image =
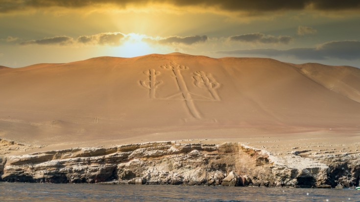
M265 55L268 57L290 56L298 59L314 60L323 60L328 58L356 60L360 59L360 41L332 41L320 44L316 48L295 48L288 50L251 49L235 51L217 51L216 53L237 55Z

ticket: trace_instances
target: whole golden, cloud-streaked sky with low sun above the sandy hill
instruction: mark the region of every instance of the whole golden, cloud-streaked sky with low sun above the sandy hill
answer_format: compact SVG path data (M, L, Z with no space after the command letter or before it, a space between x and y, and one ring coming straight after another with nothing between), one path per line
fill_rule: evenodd
M182 52L360 68L360 0L0 0L0 65Z

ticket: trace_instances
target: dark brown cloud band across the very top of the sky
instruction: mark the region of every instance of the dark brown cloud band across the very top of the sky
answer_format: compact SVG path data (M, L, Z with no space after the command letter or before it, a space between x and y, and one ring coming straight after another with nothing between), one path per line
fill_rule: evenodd
M359 0L0 0L0 12L28 8L81 8L100 4L115 4L125 8L129 4L168 3L175 6L217 7L228 11L264 12L278 10L347 10L360 9Z

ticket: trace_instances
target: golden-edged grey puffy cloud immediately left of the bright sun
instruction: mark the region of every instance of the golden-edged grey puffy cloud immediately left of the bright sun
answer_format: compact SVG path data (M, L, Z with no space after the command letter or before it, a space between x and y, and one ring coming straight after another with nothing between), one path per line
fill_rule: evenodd
M80 36L77 38L77 42L81 44L118 46L121 43L120 40L124 37L125 35L120 32L107 32L89 36Z

